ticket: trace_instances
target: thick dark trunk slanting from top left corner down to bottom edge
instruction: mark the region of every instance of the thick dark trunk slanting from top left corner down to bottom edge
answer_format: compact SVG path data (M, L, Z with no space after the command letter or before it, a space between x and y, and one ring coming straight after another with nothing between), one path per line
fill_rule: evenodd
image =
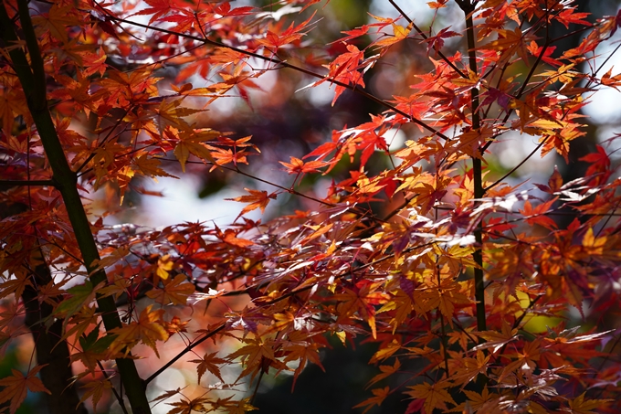
M11 48L9 56L26 95L28 109L33 121L37 125L37 132L41 143L43 143L47 161L52 168L52 181L58 188L67 208L71 227L78 241L87 271L90 274L90 281L96 286L101 282L105 282L107 276L105 271L95 271L95 268L92 266L95 260L100 260L100 255L90 229L89 218L79 196L77 175L71 171L68 165L67 157L58 139L56 127L47 107L47 87L43 58L38 48L35 28L30 19L28 2L26 0L19 0L17 6L21 30L26 39L26 47L32 64L28 63L26 53L22 48ZM5 45L18 43L19 39L16 36L14 22L6 13L4 3L0 5L0 27L2 27L2 39ZM103 311L101 318L106 329L110 330L121 327L121 319L117 313L114 300L111 297L98 297L97 301L100 309ZM130 358L119 358L116 362L133 412L136 414L151 413L149 401L142 387L142 379L138 375L133 360Z

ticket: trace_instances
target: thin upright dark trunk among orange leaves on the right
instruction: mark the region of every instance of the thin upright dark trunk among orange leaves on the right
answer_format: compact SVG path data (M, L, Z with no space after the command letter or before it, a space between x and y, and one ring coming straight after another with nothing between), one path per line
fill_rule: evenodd
M472 12L474 11L474 5L470 5L469 2L459 2L458 5L464 11L466 15L466 36L468 39L468 65L470 71L477 75L477 51L474 37L474 24L472 22ZM480 130L480 115L479 115L479 89L472 88L470 90L470 104L472 108L472 129L475 131ZM481 157L483 152L476 154L479 156L472 157L472 180L474 184L474 198L480 200L485 196L485 189L483 188L483 172ZM479 203L479 201L475 201ZM477 329L479 331L487 330L486 316L485 316L485 284L483 275L483 232L482 223L479 221L477 228L474 230L474 238L477 242L477 248L472 253L472 259L477 263L474 268L474 289L475 299L477 300Z

